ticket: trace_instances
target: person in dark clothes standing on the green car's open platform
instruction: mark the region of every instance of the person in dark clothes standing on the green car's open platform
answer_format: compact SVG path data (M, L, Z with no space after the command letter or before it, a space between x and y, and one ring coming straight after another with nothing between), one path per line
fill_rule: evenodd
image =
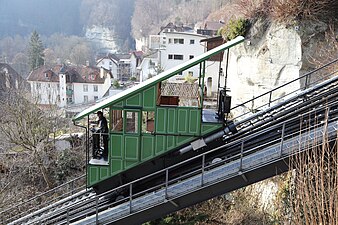
M96 113L98 120L91 121L98 125L97 129L93 131L93 159L89 162L91 164L99 164L98 160L108 162L108 123L107 119L103 116L102 111ZM103 143L103 148L101 145ZM101 153L102 149L102 153Z

